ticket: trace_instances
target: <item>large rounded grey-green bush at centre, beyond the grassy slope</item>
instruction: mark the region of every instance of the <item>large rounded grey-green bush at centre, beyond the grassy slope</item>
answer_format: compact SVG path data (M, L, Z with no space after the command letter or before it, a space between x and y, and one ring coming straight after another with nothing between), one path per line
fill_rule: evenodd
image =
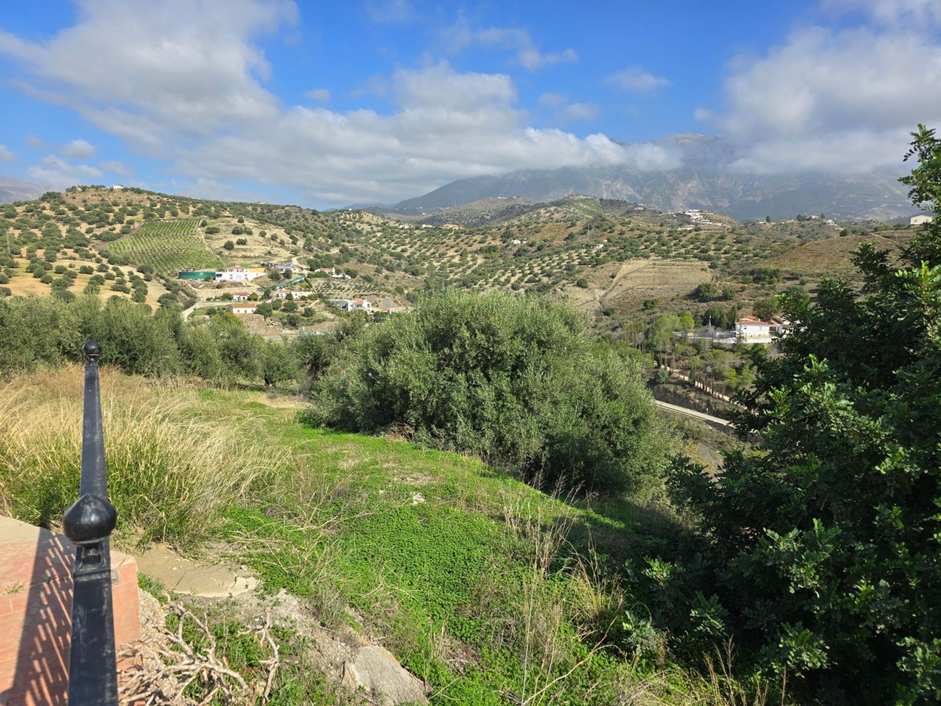
M309 418L407 426L537 485L647 490L662 426L637 366L596 354L570 308L500 293L429 297L364 329L314 384Z

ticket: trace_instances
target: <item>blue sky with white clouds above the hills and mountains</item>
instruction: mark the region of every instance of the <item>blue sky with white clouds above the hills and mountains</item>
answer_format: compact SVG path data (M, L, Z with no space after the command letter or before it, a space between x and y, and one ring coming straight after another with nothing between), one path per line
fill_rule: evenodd
M394 202L517 168L896 165L941 121L938 0L124 0L0 16L0 174ZM624 146L620 142L630 142Z

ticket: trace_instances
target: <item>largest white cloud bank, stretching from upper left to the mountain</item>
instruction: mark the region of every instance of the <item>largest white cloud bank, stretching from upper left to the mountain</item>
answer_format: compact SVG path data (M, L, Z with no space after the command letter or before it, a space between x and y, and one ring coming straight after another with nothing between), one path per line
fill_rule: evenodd
M516 168L677 166L659 146L530 127L508 75L447 62L372 81L391 104L385 114L282 104L263 87L270 68L255 38L294 19L295 6L279 0L86 0L78 24L49 40L0 33L0 54L30 72L35 95L165 160L178 185L220 196L253 184L327 205L388 202ZM526 37L487 41L518 51ZM590 106L572 110L585 116ZM100 179L101 169L50 155L31 176L71 185Z

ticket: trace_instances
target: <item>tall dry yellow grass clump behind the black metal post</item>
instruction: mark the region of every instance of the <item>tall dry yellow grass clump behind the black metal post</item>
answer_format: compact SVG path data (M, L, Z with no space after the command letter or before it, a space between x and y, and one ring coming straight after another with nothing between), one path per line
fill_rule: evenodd
M78 493L80 366L40 370L0 387L0 510L55 527ZM204 538L220 511L262 491L292 462L250 422L206 418L182 381L103 371L104 451L119 529L177 546Z

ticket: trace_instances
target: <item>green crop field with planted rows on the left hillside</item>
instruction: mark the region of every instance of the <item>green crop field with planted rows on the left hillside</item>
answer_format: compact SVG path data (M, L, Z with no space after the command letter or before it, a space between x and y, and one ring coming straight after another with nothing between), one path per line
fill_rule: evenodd
M134 233L111 245L111 250L137 265L152 265L157 272L217 267L221 261L206 247L196 230L196 218L148 221Z

